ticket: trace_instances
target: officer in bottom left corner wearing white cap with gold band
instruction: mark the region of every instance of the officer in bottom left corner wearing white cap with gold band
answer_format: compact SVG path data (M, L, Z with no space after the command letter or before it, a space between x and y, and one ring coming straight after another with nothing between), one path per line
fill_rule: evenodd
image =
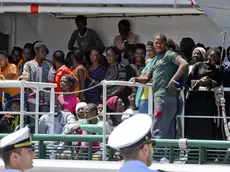
M5 164L3 172L24 172L33 168L33 151L30 129L22 128L8 134L0 141L1 158Z

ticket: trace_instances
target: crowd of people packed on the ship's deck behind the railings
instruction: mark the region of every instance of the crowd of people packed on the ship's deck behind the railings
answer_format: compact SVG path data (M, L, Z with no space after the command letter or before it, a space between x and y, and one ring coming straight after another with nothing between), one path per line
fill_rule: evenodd
M42 41L14 47L11 54L0 52L0 79L55 83L55 133L102 134L103 80L152 83L154 94L153 138L181 137L176 116L181 111L180 92L185 88L185 115L218 116L213 88L230 86L229 62L223 62L221 47L205 47L192 38L180 44L164 34L153 41L136 42L128 20L118 24L119 35L105 48L98 34L87 27L85 16L75 19L77 30L68 43L69 52L53 52ZM152 38L150 38L151 40ZM230 58L230 48L227 57ZM96 86L96 87L95 87ZM200 87L207 91L199 92ZM20 88L1 88L2 110L20 111ZM225 94L227 115L229 94ZM25 110L35 112L35 89L27 88ZM107 86L107 112L122 113L106 118L106 133L126 120L129 115L148 113L148 88ZM49 112L48 92L39 92L39 111ZM0 119L0 132L13 132L19 125L19 115L5 114ZM186 118L185 137L190 139L224 139L222 120ZM26 116L25 124L34 117ZM97 126L97 127L95 127ZM49 133L50 116L39 117L39 133ZM84 143L77 143L77 145ZM95 143L98 144L98 143Z

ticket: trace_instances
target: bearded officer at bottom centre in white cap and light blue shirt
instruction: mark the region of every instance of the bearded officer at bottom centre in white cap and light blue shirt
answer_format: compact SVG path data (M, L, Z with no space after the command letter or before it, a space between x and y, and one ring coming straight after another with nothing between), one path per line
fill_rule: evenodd
M141 127L137 127L140 125ZM125 161L119 172L157 172L148 168L152 163L155 146L155 141L151 139L151 127L151 117L138 114L123 121L113 130L108 144L113 149L119 149Z

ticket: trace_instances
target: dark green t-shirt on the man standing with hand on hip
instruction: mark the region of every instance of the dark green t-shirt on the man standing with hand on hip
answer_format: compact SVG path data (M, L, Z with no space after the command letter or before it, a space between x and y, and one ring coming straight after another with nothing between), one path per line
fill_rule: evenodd
M149 71L152 72L154 97L173 96L167 86L178 69L176 61L179 58L181 56L173 51L164 51L153 59Z

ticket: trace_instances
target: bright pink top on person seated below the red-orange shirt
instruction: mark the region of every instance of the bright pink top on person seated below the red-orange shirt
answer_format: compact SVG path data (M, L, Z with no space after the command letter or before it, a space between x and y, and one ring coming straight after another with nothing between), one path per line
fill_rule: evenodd
M68 110L71 113L75 113L75 107L80 102L79 98L74 94L65 95L63 94L58 95L57 99L60 103L64 106L64 110Z

